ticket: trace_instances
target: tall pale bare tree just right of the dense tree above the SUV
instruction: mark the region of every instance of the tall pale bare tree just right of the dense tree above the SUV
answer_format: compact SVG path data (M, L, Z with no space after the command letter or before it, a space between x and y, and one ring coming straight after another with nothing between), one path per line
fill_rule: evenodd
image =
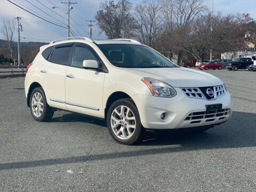
M157 39L161 34L161 4L158 0L143 1L135 7L137 17L138 39L150 47L157 47Z

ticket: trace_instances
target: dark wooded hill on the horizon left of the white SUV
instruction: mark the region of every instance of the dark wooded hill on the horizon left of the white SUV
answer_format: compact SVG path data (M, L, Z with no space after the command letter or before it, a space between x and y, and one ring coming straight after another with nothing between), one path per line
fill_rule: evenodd
M39 52L39 47L46 45L49 43L41 43L41 42L21 42L20 49L21 49L21 60L28 64L34 60L36 54ZM14 57L18 59L18 43L13 42L13 52ZM3 54L6 58L11 58L9 54L7 41L0 39L0 55Z

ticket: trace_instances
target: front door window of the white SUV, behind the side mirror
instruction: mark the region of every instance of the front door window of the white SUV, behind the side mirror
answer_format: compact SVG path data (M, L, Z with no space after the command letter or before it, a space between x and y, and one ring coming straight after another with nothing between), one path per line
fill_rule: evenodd
M99 60L97 56L87 47L76 46L72 66L83 67L83 60Z

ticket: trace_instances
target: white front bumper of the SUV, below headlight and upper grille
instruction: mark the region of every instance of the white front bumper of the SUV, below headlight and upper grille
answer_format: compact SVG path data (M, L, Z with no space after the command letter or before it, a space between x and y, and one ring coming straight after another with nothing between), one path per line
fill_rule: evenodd
M208 101L188 98L180 88L174 87L174 89L177 91L177 95L173 98L132 95L143 127L147 129L179 129L212 125L226 122L232 115L232 99L228 92L219 99ZM206 110L205 105L217 103L222 103L223 114L215 113L212 114L213 116L203 114ZM163 113L166 114L166 117L161 119Z

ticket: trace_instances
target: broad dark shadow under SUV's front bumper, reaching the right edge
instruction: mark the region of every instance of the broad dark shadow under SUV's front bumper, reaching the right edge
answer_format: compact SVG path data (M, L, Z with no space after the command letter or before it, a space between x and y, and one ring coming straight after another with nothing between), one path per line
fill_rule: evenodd
M161 130L140 146L179 145L186 149L256 147L256 114L233 111L231 119L201 133Z

